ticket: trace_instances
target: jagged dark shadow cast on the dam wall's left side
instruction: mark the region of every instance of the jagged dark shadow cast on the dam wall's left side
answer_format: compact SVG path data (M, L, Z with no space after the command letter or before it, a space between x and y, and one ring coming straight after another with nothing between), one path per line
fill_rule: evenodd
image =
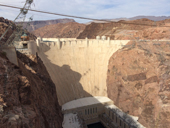
M53 80L57 96L60 105L67 103L69 101L83 98L91 97L92 95L83 89L83 86L79 82L82 75L76 71L73 71L69 65L58 66L51 62L45 52L50 50L50 47L43 44L43 50L38 48L38 56L43 61L48 73Z

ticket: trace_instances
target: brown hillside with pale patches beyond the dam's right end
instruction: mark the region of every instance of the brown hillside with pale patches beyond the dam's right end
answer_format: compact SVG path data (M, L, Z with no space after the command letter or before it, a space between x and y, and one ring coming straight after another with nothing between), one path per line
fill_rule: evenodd
M142 24L142 25L138 25ZM146 24L146 25L144 25ZM112 23L91 23L80 33L78 39L95 39L96 36L106 36L111 39L124 40L130 39L169 39L170 21L154 22L149 19L137 19L133 21L118 21ZM150 26L155 25L155 26Z

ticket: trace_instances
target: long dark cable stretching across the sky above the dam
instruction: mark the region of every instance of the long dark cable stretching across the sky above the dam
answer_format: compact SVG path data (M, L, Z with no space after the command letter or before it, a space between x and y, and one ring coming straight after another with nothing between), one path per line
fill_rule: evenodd
M8 8L15 8L15 9L22 9L21 7L4 5L4 4L0 4L0 6L4 6L4 7L8 7ZM86 20L96 20L96 21L104 21L104 22L112 22L112 23L134 24L134 25L155 26L155 27L157 26L157 25L150 25L150 24L127 23L127 22L123 22L123 21L121 21L121 22L114 22L114 21L110 21L110 20L94 19L94 18L87 18L87 17L80 17L80 16L72 16L72 15L66 15L66 14L60 14L60 13L53 13L53 12L34 10L34 9L28 9L28 10L29 11L33 11L33 12L38 12L38 13L45 13L45 14L65 16L65 17L72 17L72 18L78 18L78 19L86 19ZM170 27L170 26L159 26L159 27Z

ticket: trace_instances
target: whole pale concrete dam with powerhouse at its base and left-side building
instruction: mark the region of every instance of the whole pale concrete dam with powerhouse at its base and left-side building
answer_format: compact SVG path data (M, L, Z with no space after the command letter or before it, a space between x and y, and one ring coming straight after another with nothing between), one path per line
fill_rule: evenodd
M24 54L38 54L56 85L64 114L63 128L145 128L107 98L107 69L111 55L129 40L37 39L16 42ZM50 86L50 85L49 85Z

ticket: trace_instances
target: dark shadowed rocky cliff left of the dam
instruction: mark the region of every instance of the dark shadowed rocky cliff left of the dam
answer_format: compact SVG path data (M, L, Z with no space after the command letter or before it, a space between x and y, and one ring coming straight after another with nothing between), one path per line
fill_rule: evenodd
M43 62L17 56L19 67L0 52L0 128L61 128L55 85Z

